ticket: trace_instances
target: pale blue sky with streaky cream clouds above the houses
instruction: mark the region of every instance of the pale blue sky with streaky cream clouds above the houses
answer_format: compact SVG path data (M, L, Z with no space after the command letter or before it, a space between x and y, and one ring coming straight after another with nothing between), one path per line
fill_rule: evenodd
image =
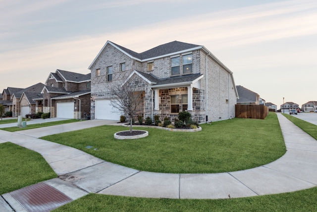
M0 0L0 89L89 73L106 41L205 46L266 102L316 100L316 0Z

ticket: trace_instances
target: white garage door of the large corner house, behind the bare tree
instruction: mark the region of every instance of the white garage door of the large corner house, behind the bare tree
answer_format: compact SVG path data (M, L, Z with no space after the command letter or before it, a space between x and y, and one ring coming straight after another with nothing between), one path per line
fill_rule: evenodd
M96 100L95 119L120 120L118 109L113 108L110 100Z

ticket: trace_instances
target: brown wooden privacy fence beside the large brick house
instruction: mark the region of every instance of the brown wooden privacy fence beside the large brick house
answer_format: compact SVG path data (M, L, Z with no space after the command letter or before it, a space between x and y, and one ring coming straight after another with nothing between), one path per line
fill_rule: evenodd
M236 118L265 119L268 107L265 105L235 105Z

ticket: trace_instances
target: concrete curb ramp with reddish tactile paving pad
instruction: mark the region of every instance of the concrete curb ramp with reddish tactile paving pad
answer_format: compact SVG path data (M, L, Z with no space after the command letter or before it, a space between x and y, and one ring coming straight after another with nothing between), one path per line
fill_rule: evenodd
M72 201L44 182L10 192L10 194L29 212L49 212Z

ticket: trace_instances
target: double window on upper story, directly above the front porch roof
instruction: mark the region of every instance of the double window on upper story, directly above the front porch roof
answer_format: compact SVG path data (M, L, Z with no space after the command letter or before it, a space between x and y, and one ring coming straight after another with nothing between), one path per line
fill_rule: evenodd
M171 58L171 75L181 75L193 72L193 55L182 56L182 69L180 69L180 57Z

